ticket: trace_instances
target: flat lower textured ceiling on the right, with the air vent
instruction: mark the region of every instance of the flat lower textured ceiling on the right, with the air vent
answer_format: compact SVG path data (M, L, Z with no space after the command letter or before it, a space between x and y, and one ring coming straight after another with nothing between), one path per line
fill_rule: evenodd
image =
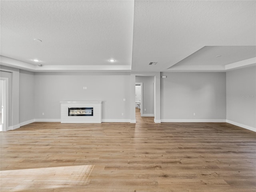
M255 46L255 3L135 1L132 70L165 71L204 46Z

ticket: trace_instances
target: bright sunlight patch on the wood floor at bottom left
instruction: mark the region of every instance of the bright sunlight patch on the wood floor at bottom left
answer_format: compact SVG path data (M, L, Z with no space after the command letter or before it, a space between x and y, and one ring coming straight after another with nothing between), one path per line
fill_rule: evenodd
M85 185L90 182L88 177L93 168L94 165L79 165L0 171L1 184L4 184L1 191L36 191Z

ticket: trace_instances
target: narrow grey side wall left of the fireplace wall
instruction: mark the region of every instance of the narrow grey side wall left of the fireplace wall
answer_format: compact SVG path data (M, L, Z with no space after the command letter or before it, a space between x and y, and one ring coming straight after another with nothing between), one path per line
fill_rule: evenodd
M20 70L20 126L34 120L34 73Z

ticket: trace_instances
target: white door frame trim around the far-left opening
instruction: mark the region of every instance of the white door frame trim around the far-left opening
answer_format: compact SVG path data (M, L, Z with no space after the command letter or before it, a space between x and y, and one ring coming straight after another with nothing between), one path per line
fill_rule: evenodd
M0 80L3 80L4 82L4 86L2 88L3 90L3 98L2 98L2 106L3 106L3 110L2 110L2 106L1 106L1 110L3 112L3 126L2 126L2 131L6 131L8 126L9 126L9 78L5 78L5 77L0 77Z

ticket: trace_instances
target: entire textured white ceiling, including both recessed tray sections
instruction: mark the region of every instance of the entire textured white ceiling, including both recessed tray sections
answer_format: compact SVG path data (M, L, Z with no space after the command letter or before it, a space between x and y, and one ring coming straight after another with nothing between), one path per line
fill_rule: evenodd
M31 71L224 71L223 65L255 58L256 1L1 0L0 6L1 65Z

